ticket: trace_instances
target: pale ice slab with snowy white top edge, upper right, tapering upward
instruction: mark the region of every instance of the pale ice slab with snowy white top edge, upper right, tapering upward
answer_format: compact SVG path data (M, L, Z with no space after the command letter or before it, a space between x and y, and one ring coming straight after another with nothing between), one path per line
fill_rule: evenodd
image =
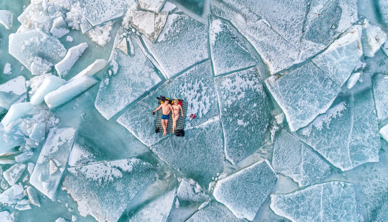
M361 26L353 26L324 52L311 59L339 87L349 78L362 56L358 29L361 29Z

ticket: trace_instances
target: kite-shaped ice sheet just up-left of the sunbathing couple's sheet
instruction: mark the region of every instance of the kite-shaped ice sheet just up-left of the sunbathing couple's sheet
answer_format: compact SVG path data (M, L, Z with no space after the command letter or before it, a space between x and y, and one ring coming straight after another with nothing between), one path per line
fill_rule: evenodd
M95 107L107 120L161 82L154 65L137 45L139 41L135 42L132 37L128 40L132 42L134 55L128 56L116 48L112 50L111 66L105 71L95 101ZM119 42L116 38L114 45Z

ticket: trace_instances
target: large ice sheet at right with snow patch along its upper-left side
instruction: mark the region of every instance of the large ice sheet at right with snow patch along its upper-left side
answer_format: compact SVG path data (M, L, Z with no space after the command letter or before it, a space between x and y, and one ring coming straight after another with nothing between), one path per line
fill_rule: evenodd
M338 97L326 113L294 135L334 166L350 170L379 161L381 143L374 112L371 90Z

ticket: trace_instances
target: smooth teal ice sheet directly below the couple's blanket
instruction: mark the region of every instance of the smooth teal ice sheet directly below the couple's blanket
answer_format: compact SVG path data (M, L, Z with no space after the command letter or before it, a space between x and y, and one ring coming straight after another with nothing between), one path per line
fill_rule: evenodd
M208 186L211 177L223 171L222 144L220 121L215 118L185 128L184 137L163 139L150 148L185 177L196 180L201 186Z

